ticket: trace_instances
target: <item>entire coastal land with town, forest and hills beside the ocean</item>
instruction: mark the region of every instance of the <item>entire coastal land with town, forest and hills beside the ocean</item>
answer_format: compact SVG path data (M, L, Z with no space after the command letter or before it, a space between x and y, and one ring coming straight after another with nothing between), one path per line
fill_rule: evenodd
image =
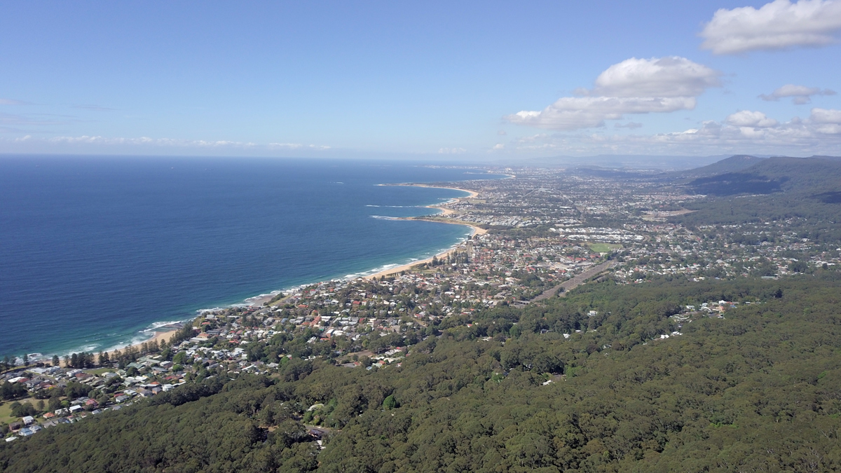
M451 215L489 231L444 258L72 355L103 367L67 372L95 389L0 385L8 416L91 414L0 444L0 470L841 470L841 230L809 197L832 192L819 161L722 165L770 194L487 184Z

